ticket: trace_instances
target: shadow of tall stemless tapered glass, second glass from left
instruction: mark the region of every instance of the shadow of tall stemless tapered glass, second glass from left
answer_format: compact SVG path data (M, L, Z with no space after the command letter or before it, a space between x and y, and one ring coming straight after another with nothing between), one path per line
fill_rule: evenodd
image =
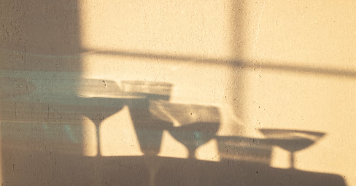
M121 84L124 92L145 97L145 99L127 100L127 105L142 153L157 155L161 147L163 130L167 130L171 123L152 115L150 102L169 100L173 85L151 81L122 81Z

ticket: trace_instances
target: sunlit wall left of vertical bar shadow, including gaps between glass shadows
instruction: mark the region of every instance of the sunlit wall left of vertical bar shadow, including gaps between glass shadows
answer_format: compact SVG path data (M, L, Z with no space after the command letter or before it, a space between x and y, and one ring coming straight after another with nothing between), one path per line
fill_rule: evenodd
M222 1L82 2L81 41L87 50L83 54L83 77L114 81L121 88L124 80L172 83L171 102L218 107L223 110L220 117L224 121L219 122L218 133L229 131L225 121L231 116L225 110L231 107L224 100L231 99L230 66L226 66L231 58L231 6ZM105 155L120 155L119 149L124 147L114 147L125 139L110 134L117 127L111 123L125 121L122 127L132 130L132 123L125 118L129 114L121 112L100 127L103 142L117 138L111 150L102 146L103 153L108 152ZM131 145L138 146L137 141L131 141ZM129 144L123 145L125 149L131 148ZM216 141L206 145L195 156L218 160ZM187 157L184 148L164 133L159 156ZM209 148L216 150L206 150Z

